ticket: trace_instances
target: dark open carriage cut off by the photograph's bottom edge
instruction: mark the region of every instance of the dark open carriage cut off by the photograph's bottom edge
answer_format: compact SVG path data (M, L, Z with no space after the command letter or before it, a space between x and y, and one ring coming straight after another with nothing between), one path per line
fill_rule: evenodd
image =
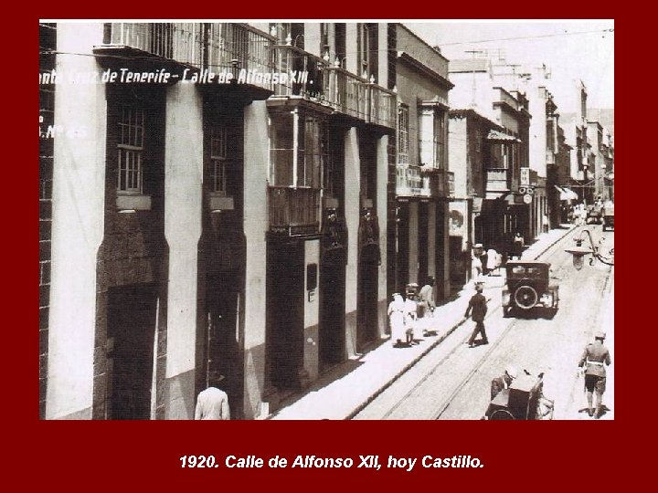
M485 419L553 419L555 402L543 393L544 373L524 374L497 393L484 414Z

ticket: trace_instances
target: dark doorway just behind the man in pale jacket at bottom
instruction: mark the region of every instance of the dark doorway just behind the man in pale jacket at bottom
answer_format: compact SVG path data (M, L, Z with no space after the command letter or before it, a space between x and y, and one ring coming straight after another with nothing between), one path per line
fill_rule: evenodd
M241 415L242 364L239 351L239 274L235 270L207 276L207 372L223 375L218 386L228 394L231 414Z

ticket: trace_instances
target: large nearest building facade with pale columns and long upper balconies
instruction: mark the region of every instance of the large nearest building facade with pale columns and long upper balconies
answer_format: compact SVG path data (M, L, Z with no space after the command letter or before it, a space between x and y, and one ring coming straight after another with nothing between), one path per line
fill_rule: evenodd
M389 29L53 26L42 417L189 419L218 375L259 417L383 337Z

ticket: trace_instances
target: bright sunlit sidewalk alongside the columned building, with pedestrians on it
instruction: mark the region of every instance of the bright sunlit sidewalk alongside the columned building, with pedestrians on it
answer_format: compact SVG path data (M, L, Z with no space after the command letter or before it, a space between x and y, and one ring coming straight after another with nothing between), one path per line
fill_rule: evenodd
M572 226L542 233L535 243L525 249L524 260L534 260L568 235ZM500 299L497 293L504 284L504 276L485 277L484 296ZM473 294L472 282L464 286L453 299L434 310L427 337L415 334L419 345L394 347L388 338L372 351L349 360L324 373L311 386L283 403L283 407L267 419L349 419L372 402L427 352L440 344L463 323L463 314ZM496 296L497 295L497 296Z

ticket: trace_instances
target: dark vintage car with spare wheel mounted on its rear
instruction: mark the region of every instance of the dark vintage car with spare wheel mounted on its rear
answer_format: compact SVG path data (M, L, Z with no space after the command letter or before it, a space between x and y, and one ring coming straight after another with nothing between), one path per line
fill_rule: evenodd
M555 313L559 302L559 288L550 282L548 262L509 261L505 265L507 278L503 288L503 315L520 309L527 312L536 307Z

